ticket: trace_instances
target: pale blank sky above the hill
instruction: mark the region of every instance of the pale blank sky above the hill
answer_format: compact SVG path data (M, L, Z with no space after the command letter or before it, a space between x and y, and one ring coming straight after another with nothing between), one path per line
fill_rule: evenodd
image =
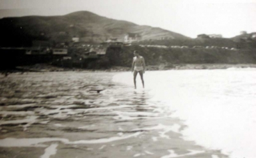
M116 20L161 27L191 38L256 32L256 0L0 0L0 18L92 11Z

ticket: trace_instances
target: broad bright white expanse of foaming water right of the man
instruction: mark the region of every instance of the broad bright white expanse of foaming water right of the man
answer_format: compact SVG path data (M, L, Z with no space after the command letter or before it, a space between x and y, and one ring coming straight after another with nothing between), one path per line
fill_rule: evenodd
M256 69L147 71L145 91L163 114L184 121L184 140L195 141L231 158L256 157ZM133 86L132 73L114 82ZM138 90L143 91L140 77Z

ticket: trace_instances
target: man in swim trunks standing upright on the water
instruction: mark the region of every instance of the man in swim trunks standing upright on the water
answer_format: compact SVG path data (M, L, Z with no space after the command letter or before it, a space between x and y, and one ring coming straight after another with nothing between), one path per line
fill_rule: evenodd
M144 88L144 80L143 80L143 73L145 73L145 60L142 56L138 54L136 50L134 50L134 58L132 60L132 73L133 73L133 81L134 87L136 89L136 76L140 73L141 82Z

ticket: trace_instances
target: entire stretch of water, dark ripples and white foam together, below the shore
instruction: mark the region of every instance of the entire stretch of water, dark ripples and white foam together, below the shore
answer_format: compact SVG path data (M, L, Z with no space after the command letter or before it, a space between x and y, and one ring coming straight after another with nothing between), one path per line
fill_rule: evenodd
M253 158L254 74L147 71L138 90L130 72L1 75L1 157Z

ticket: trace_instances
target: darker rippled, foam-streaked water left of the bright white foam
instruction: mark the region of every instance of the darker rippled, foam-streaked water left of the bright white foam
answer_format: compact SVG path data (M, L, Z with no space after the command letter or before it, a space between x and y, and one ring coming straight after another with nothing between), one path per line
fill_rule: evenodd
M1 75L1 157L228 157L186 141L183 120L116 74Z

